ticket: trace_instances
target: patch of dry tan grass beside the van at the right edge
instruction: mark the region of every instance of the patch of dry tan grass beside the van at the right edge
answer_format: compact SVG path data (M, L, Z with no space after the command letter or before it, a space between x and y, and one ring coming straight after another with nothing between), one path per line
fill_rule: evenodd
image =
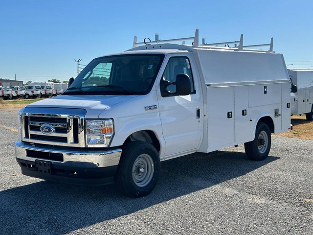
M291 117L293 130L279 134L279 136L313 140L313 121L307 121L305 115Z

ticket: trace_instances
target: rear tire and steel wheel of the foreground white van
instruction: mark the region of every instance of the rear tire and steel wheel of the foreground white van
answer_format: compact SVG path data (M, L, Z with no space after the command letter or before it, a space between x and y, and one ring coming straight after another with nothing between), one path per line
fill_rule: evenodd
M260 122L256 126L253 141L245 143L246 156L253 161L265 160L268 156L271 144L271 136L268 125Z

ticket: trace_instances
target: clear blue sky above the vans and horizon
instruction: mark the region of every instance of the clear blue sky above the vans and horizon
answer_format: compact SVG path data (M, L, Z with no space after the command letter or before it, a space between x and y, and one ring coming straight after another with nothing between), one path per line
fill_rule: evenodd
M0 78L68 80L74 59L123 51L149 37L192 37L206 43L269 43L288 68L313 69L312 0L1 0ZM200 40L201 41L201 40Z

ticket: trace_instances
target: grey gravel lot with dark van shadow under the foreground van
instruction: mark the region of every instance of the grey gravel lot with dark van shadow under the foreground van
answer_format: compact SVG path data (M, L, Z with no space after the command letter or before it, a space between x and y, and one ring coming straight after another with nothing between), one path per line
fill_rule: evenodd
M0 234L313 234L313 141L273 136L263 162L243 145L162 162L155 190L134 199L23 176L17 113L0 108Z

